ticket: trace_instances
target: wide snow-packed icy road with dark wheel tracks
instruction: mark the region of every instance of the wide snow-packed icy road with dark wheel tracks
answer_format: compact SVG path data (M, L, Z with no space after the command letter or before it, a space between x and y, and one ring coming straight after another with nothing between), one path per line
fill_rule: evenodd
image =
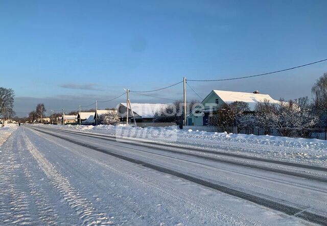
M327 224L326 168L122 141L13 131L0 146L0 224Z

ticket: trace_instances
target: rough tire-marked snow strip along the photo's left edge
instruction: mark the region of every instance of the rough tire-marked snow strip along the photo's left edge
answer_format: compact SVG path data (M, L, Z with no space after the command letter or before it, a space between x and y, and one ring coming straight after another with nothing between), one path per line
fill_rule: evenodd
M3 146L0 159L0 219L5 225L32 225L30 202L19 177L21 164L13 153L13 139Z

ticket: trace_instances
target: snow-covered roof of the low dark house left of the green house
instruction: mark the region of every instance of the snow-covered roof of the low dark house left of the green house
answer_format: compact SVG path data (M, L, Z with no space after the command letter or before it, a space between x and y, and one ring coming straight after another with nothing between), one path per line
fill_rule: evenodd
M120 103L118 108L124 106L126 108L126 103ZM141 118L153 118L154 114L162 108L168 107L168 104L138 104L131 103L132 110L135 116L139 116ZM130 109L130 108L129 108ZM121 112L120 110L118 112ZM126 115L125 115L126 117Z

